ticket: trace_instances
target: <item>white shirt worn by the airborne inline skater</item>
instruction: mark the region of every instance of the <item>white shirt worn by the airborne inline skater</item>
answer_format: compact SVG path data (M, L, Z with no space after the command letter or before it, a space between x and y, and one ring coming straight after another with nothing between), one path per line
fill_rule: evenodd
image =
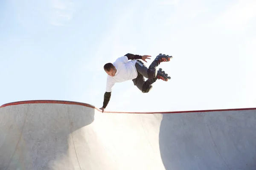
M116 67L116 74L114 77L108 75L106 92L111 92L116 82L124 82L137 77L136 61L136 59L128 60L128 57L122 56L113 62L113 65Z

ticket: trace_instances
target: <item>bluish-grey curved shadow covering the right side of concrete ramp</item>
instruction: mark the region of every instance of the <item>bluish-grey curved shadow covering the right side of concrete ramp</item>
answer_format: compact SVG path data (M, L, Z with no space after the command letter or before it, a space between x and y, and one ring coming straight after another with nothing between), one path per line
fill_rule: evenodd
M166 170L255 170L256 110L163 114Z

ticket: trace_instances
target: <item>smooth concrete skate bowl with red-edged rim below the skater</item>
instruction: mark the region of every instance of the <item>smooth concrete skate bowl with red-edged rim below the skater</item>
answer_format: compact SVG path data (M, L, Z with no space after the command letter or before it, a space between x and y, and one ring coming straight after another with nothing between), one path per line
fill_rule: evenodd
M101 113L79 102L8 103L0 170L256 170L256 108Z

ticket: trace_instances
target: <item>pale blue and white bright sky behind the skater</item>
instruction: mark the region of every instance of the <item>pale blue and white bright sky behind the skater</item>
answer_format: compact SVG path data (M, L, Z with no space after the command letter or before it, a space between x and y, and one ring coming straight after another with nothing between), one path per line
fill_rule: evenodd
M69 100L102 107L106 62L172 55L148 94L114 86L107 110L256 107L255 0L2 0L0 105ZM121 94L123 93L123 94Z

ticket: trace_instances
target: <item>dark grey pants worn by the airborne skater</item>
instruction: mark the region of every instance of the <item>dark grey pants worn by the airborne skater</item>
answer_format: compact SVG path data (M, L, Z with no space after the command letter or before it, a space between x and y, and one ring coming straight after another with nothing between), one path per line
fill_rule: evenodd
M150 67L150 69L148 69L140 60L137 60L135 67L137 69L138 76L132 81L134 82L134 85L140 89L140 91L143 93L148 93L152 88L152 84L156 81L156 67ZM144 77L147 78L146 81Z

